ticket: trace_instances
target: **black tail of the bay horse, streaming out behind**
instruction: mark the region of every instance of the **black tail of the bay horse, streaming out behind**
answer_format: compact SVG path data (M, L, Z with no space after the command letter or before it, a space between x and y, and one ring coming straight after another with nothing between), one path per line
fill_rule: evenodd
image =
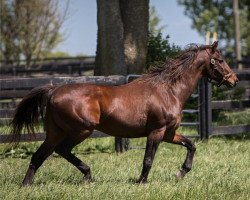
M11 141L17 144L20 141L22 130L35 134L35 125L38 118L44 118L45 106L47 105L52 91L56 86L42 86L34 88L25 96L15 110L11 121Z

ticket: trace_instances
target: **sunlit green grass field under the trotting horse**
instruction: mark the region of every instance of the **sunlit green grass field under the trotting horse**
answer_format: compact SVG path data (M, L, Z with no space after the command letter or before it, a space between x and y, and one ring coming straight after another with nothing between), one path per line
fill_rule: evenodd
M142 145L145 139L133 139ZM143 149L114 153L113 138L88 139L74 152L91 166L93 182L82 182L81 173L54 155L45 161L33 185L20 183L39 143L20 144L2 154L0 199L250 199L250 136L216 137L196 141L193 170L180 182L175 173L184 161L183 147L162 143L146 185L135 184L139 177ZM1 145L3 152L6 146Z

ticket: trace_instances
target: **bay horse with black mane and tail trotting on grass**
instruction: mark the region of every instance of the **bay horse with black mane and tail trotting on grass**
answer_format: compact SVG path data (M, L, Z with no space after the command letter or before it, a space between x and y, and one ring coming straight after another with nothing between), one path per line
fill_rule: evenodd
M22 185L32 183L37 169L54 151L77 167L85 181L91 181L90 167L71 150L94 129L117 137L147 137L138 183L147 182L160 142L186 147L186 159L176 175L177 180L184 177L191 170L196 151L193 142L176 131L185 101L201 77L228 87L238 82L217 45L190 46L176 59L167 59L121 86L82 83L31 90L15 111L12 137L19 141L22 129L34 134L34 126L42 116L46 139L33 154Z

